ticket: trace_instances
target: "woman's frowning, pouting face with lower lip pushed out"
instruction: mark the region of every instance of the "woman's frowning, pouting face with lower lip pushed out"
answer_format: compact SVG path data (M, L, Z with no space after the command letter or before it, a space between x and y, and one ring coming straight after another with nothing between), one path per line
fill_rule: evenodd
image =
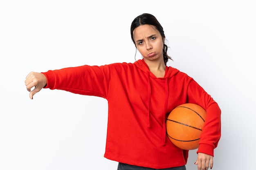
M135 45L144 60L164 60L164 43L161 34L153 25L140 25L134 31Z

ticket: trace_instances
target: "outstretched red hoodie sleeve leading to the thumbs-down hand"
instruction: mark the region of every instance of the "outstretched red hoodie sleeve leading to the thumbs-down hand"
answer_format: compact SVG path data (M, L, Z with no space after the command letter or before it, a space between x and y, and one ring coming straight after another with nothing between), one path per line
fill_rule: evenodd
M108 65L84 65L59 70L49 70L43 74L47 78L45 88L107 98L110 77L109 72Z

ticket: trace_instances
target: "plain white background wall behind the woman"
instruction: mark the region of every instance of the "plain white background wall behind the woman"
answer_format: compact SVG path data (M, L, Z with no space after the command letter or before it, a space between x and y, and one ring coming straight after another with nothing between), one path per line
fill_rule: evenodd
M30 71L134 62L130 24L142 13L155 15L164 27L174 60L168 66L193 77L222 109L213 169L254 169L253 2L2 0L0 170L117 169L103 157L105 99L43 89L31 100L24 81ZM187 170L197 170L195 152Z

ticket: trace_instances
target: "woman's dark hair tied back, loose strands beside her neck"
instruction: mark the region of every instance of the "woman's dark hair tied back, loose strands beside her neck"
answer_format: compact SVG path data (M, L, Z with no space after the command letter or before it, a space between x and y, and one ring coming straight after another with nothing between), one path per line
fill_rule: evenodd
M155 26L155 28L160 32L160 34L162 35L162 38L165 39L165 35L164 35L164 29L161 26L161 24L158 22L158 20L155 18L155 16L149 14L149 13L143 13L139 16L137 16L131 24L131 38L132 38L132 42L135 44L135 40L134 40L134 35L133 35L133 31L140 25L145 25L145 24L149 24L149 25L153 25ZM136 44L135 44L136 46ZM168 46L165 44L164 42L164 48L163 48L163 54L164 54L164 64L166 65L166 63L168 62L168 59L173 60L170 56L168 56L167 54L167 50L168 50Z

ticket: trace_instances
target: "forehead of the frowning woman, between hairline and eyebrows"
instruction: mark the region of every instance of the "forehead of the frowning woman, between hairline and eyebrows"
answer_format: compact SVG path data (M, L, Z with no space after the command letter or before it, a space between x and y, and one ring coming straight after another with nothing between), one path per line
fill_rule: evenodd
M150 35L161 35L153 25L140 25L133 31L135 40L148 37Z

